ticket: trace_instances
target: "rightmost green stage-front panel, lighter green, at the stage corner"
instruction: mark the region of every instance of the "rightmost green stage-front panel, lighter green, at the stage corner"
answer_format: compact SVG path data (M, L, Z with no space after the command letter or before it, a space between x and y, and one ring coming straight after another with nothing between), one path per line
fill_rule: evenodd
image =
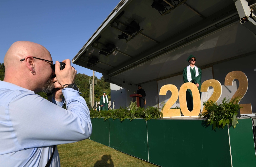
M252 120L239 119L236 128L229 129L233 167L256 166Z

